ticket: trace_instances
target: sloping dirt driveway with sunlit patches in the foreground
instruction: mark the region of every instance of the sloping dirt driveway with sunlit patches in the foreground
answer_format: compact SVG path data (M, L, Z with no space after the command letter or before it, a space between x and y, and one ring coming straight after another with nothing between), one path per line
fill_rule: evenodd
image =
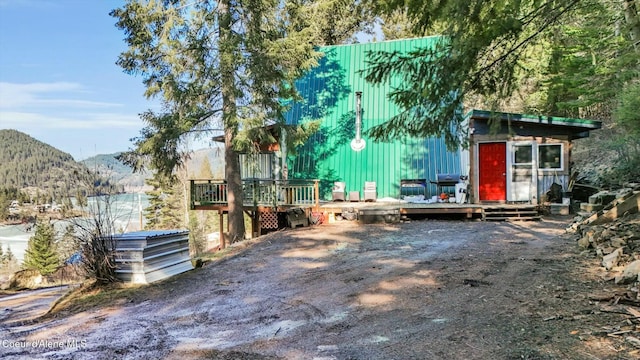
M616 289L564 235L569 221L271 233L112 306L4 324L0 357L639 358L624 330L637 317L593 300Z

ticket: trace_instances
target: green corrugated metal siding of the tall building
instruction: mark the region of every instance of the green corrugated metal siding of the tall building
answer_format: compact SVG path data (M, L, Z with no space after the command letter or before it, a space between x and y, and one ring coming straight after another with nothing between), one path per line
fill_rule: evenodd
M365 181L375 181L378 197L398 197L400 179L435 180L437 173L466 173L461 168L460 151L449 152L442 139L405 138L393 142L373 142L363 135L366 147L355 152L355 92L362 91L363 133L398 113L387 94L398 85L373 86L360 73L366 68L369 51L409 52L433 46L437 37L370 44L329 46L320 66L298 83L304 104L295 104L287 114L289 123L322 118L321 130L290 159L289 176L321 180L321 193L330 198L334 181L344 181L347 191L362 190ZM435 195L435 185L429 184Z

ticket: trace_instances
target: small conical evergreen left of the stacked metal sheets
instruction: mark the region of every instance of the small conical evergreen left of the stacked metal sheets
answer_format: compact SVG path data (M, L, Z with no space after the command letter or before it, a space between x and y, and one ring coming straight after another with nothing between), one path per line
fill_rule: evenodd
M54 229L49 221L38 220L36 233L29 239L23 266L49 275L60 265L58 253L54 248Z

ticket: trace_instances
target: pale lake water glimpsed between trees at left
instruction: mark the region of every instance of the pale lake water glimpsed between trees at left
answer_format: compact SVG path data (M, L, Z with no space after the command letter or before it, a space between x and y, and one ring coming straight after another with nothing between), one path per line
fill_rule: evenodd
M144 217L141 210L149 206L146 194L119 194L109 197L108 204L103 197L88 198L89 209L104 209L109 205L111 218L114 219L114 227L118 232L137 231L144 227ZM69 224L65 220L54 220L55 229L62 233ZM0 225L0 246L3 253L11 248L11 252L18 262L24 259L29 238L35 233L35 229L29 229L30 225Z

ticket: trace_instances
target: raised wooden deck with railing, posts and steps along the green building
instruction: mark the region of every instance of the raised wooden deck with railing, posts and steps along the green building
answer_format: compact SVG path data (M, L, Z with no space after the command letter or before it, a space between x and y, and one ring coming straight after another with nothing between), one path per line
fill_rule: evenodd
M191 180L192 210L213 210L220 216L220 239L224 247L224 214L229 212L227 185L223 180ZM244 180L244 211L252 219L252 235L278 225L278 213L286 215L296 208L312 212L341 215L357 213L363 218L372 216L456 216L485 221L538 220L537 209L530 204L458 204L451 202L407 202L399 199L376 201L320 201L318 180ZM274 225L275 222L275 225ZM269 224L269 225L265 225Z

